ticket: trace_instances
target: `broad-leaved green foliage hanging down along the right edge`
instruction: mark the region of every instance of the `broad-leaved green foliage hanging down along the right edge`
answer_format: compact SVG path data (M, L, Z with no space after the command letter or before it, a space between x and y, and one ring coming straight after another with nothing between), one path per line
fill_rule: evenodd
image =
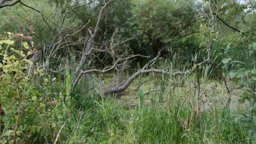
M254 53L256 51L256 30L253 28L253 21L255 19L248 19L252 15L255 15L254 9L255 7L249 8L251 3L245 4L231 4L231 3L223 3L222 7L226 7L226 14L230 13L230 11L235 11L237 14L233 13L233 16L237 19L235 25L239 26L239 28L243 31L243 39L239 38L237 41L228 43L226 48L224 49L224 53L228 55L228 58L222 60L225 65L233 66L229 71L229 77L234 79L234 82L241 82L241 87L245 87L246 92L243 93L239 103L245 103L246 100L250 101L251 106L249 108L250 113L244 115L237 115L235 117L236 122L241 122L243 126L249 129L250 137L247 138L252 143L256 142L256 123L255 123L255 82L256 82L256 69L254 62ZM249 7L247 7L249 6ZM247 9L247 10L246 10ZM249 12L248 12L249 11ZM247 13L248 12L248 13ZM241 45L239 43L244 43L244 39L248 42L247 45L243 48L244 50L237 50L237 45ZM239 52L237 52L239 51ZM245 52L244 55L241 52ZM243 56L244 55L244 56ZM241 57L242 56L242 57ZM229 66L229 67L230 67ZM237 89L241 88L237 87Z

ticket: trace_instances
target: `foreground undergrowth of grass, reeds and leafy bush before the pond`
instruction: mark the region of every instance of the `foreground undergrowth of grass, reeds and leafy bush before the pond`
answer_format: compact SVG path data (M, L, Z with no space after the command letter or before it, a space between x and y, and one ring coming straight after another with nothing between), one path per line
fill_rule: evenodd
M19 65L20 61L15 59L15 62ZM174 60L170 61L173 62ZM160 63L162 68L166 66L166 62ZM17 66L10 67L18 69L16 73L20 73L20 76L28 75L23 74ZM211 69L204 65L201 81L208 80L211 73L209 70ZM67 68L64 77L61 77L61 74L34 71L22 83L17 84L15 78L9 79L13 90L2 86L1 92L4 95L1 97L1 105L4 114L1 114L1 143L12 143L15 131L17 143L247 141L246 129L239 121L233 120L236 111L220 109L219 102L210 109L202 109L198 95L202 97L203 93L198 94L198 89L191 89L186 97L182 94L184 83L193 87L192 81L181 81L183 76L150 75L153 79L159 79L159 91L144 95L145 90L141 86L138 91L138 106L127 108L124 101L116 101L103 95L102 82L97 77L91 79L97 84L94 89L90 90L89 81L82 81L77 86L76 93L70 93L71 72ZM2 71L1 77L13 73L14 71ZM180 84L175 85L176 81L180 81ZM17 85L20 87L16 88ZM11 97L13 94L16 96ZM20 118L17 120L18 117Z

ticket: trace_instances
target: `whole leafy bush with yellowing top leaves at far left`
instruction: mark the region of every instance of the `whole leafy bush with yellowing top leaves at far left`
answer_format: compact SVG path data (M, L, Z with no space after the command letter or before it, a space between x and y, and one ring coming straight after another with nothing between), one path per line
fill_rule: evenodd
M0 82L1 82L1 135L0 143L23 139L28 143L43 141L47 132L43 129L54 127L45 120L51 115L46 110L47 98L43 97L35 78L44 75L39 69L31 69L28 60L31 50L26 40L30 37L6 32L9 38L0 41ZM19 47L17 49L17 47ZM48 102L55 105L55 102Z

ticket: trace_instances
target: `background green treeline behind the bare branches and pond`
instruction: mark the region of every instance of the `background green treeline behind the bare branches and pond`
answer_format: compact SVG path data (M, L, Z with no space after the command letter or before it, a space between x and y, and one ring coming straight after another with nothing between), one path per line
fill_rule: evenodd
M99 1L99 3L102 2ZM2 35L3 31L20 33L24 28L29 29L33 27L35 32L35 34L33 34L35 38L34 43L38 49L44 46L46 47L44 57L47 57L47 53L50 51L47 50L47 46L50 45L53 38L57 35L55 31L58 29L57 25L61 23L60 16L69 11L74 5L83 3L87 2L60 1L56 3L50 1L26 1L25 4L41 11L43 16L21 4L6 7L5 9L1 9L0 31L2 31ZM220 11L218 13L219 17L228 23L228 25L239 29L239 26L235 25L235 19L237 18L233 16L232 12L225 14L225 9L228 8L221 7L223 3L225 3L225 1L218 1L217 3ZM102 43L100 42L104 40L109 41L115 31L122 32L116 37L119 41L127 39L135 35L137 31L140 31L142 32L141 35L125 43L124 47L127 52L151 55L151 58L154 58L158 50L164 48L162 52L163 57L169 57L171 50L173 54L177 53L179 57L182 57L179 62L184 63L186 65L185 68L188 68L190 66L187 61L191 60L191 55L199 51L204 52L206 48L204 34L200 32L200 26L206 25L202 5L205 5L202 1L190 0L111 2L103 12L95 46L101 46ZM90 22L87 28L94 27L97 23L101 6L101 4L98 4L98 1L95 1L95 3L77 7L74 13L67 14L65 18L66 21L63 23L63 27L60 30L65 31L70 28L77 29L84 24L83 22L87 23L88 20L90 20ZM58 11L56 11L56 9L58 9ZM253 13L251 14L251 17L253 17ZM56 17L56 15L59 16ZM217 21L218 29L220 30L219 33L223 36L225 41L231 42L237 38L241 38L237 31L223 25L220 20L217 19ZM87 29L83 29L78 35L71 38L76 41L79 36L86 37L86 35ZM97 41L99 43L97 43ZM236 45L241 45L241 43L237 43ZM214 45L214 49L220 50L220 48L218 44ZM83 47L79 45L70 46L72 53L82 51L82 49ZM123 49L120 51L122 52ZM70 57L70 53L65 53L65 51L59 51L58 53L62 54L62 57L65 54L67 57ZM100 59L103 57L105 57L105 54L99 54ZM107 61L111 63L113 60L109 57ZM138 58L138 60L132 62L133 68L138 61L140 65L143 66L149 59ZM95 63L97 63L95 65L99 65L97 66L98 68L104 67L104 64L100 61L96 60Z

